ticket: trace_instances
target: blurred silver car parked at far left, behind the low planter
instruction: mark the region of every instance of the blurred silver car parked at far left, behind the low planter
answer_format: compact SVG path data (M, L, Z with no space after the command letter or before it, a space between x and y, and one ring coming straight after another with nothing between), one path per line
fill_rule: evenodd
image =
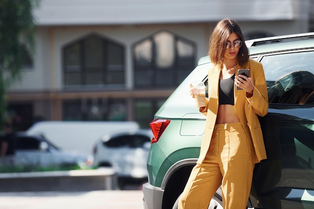
M15 165L48 167L48 166L76 166L90 167L94 158L89 154L63 151L41 135L28 135L24 132L16 134L15 155L11 158L0 159L0 164L7 164L8 160ZM8 160L7 160L8 159Z

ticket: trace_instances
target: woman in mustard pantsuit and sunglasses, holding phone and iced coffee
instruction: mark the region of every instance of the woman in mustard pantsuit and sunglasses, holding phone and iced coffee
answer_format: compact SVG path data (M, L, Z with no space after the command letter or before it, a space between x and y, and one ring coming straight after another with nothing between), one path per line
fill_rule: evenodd
M246 208L254 163L266 158L257 115L268 111L262 64L249 59L238 24L220 21L210 41L213 67L208 97L200 112L207 116L200 156L180 197L179 209L205 209L221 185L223 208ZM250 78L238 75L249 69ZM242 88L236 90L235 86ZM193 95L193 89L190 91Z

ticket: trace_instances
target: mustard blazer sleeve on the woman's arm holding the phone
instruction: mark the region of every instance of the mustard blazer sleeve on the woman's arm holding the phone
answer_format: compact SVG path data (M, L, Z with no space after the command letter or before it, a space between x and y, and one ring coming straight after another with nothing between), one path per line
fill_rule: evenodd
M265 116L268 112L268 94L263 65L255 60L249 63L254 90L247 100L257 115Z

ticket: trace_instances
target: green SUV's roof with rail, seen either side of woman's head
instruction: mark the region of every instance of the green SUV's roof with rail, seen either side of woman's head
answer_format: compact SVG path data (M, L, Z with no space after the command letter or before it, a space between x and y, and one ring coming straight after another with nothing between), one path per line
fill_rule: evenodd
M245 41L245 44L249 49L250 56L286 50L313 49L314 32L252 39ZM205 56L199 59L198 65L209 62L209 56Z

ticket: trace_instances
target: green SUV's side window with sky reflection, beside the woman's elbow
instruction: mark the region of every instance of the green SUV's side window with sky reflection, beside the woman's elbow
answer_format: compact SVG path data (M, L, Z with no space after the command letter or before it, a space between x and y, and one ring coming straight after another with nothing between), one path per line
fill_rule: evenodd
M314 105L314 52L263 56L269 103Z

